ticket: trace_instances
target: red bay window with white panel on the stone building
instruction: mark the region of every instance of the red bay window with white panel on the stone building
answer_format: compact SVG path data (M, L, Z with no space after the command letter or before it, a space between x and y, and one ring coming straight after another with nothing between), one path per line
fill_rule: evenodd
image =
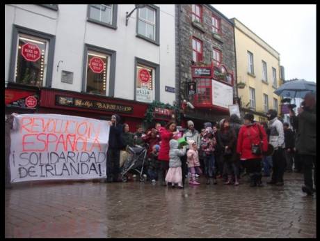
M225 65L218 67L213 63L191 66L191 73L187 94L194 108L186 109L184 120L193 120L195 127L200 129L207 121L217 123L229 116L229 106L234 104L233 73Z

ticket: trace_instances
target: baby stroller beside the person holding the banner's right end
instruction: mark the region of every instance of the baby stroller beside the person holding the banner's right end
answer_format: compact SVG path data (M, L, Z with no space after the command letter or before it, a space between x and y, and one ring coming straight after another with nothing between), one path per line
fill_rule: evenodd
M127 160L125 160L125 163L122 166L121 171L121 178L122 182L127 182L128 177L127 173L128 171L136 171L140 176L140 181L144 182L145 178L143 177L143 169L145 167L145 160L147 157L147 144L145 147L136 146L136 147L130 147L127 146L126 151L129 153Z

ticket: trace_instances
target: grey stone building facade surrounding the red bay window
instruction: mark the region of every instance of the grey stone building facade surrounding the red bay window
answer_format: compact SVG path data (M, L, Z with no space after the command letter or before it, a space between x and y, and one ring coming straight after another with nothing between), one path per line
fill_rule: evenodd
M195 9L196 8L196 9ZM186 92L186 83L192 81L191 65L211 65L214 60L214 49L218 49L222 54L221 63L225 65L228 72L232 72L233 98L237 97L237 74L236 74L236 56L234 46L234 26L233 23L218 12L209 4L181 4L175 7L176 17L176 97L178 102L189 100L190 96ZM201 19L195 12L199 13ZM218 33L214 33L214 19L218 20ZM198 19L197 19L198 18ZM217 25L217 24L216 24ZM202 42L202 61L193 61L193 39ZM192 101L191 101L192 103ZM191 109L186 108L184 117L191 118L198 125L202 120L218 121L223 116L228 116L228 111L217 109L214 105L207 108Z

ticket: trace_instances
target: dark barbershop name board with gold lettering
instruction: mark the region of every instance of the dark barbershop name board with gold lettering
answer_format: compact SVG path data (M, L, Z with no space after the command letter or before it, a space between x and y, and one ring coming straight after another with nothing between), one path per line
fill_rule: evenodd
M117 111L122 113L131 113L134 110L134 107L124 104L115 104L96 100L83 100L80 98L73 98L61 95L56 95L56 104L64 105L67 107L98 109L102 111Z

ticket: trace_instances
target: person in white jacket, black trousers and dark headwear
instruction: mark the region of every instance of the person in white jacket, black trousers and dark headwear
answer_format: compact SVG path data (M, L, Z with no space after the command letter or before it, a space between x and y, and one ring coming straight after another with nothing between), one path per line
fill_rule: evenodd
M285 134L283 132L283 125L277 118L278 112L275 109L269 109L266 113L269 120L270 127L270 141L274 152L272 155L272 176L269 182L270 185L283 186L283 173L285 172Z

